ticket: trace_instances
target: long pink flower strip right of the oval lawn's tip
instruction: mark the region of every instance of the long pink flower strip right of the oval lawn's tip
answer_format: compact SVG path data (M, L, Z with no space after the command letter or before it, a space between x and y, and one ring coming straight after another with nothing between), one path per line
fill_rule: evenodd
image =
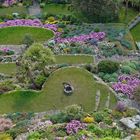
M58 43L64 43L64 42L83 42L87 41L89 39L96 39L96 40L102 40L105 38L105 32L91 32L88 35L80 35L80 36L74 36L71 38L57 38L56 42Z

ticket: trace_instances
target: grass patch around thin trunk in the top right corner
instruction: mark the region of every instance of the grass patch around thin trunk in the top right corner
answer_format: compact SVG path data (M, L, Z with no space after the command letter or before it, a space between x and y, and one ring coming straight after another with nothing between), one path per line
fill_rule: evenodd
M128 8L128 15L125 16L125 7L122 7L119 11L119 21L120 23L128 24L132 19L134 19L138 15L138 11Z

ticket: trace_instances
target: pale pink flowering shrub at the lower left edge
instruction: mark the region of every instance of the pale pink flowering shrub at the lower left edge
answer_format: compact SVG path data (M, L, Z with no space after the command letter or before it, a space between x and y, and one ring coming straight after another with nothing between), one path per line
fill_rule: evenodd
M12 128L13 124L10 119L0 118L0 132L4 132L5 130Z

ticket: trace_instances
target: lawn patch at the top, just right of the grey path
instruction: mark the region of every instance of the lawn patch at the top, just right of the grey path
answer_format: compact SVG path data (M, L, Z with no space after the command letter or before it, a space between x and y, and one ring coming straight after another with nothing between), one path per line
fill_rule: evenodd
M64 14L70 15L71 11L68 10L68 5L66 4L46 4L46 6L42 9L43 13L49 14Z

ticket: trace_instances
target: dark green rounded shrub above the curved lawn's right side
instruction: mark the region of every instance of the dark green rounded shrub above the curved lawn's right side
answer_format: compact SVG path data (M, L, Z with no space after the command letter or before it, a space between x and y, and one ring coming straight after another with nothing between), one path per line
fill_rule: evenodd
M98 72L114 73L119 69L119 63L111 60L103 60L98 63Z

